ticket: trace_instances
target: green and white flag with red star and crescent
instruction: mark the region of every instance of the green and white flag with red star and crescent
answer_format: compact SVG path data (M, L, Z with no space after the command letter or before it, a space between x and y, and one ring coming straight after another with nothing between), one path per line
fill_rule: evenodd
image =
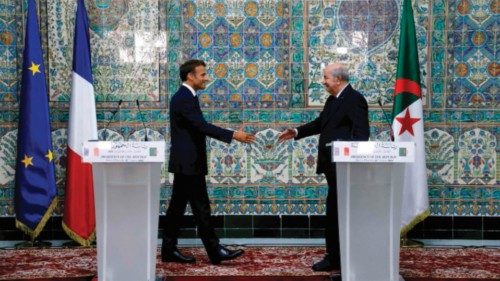
M401 235L405 235L429 215L422 91L411 0L404 0L400 28L392 130L395 141L416 144L415 162L406 167L403 187Z

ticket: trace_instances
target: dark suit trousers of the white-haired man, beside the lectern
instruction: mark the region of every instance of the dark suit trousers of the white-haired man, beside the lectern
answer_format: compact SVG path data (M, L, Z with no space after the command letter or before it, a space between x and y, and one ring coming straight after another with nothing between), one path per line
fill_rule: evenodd
M324 174L328 183L325 226L326 253L333 261L340 261L337 173L335 164L330 163L327 165Z

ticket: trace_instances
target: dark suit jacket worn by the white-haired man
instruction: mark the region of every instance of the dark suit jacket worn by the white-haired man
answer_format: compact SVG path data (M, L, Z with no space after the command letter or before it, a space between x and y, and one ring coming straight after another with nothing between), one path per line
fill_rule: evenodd
M324 173L332 162L331 148L326 144L338 141L363 141L370 137L368 104L351 85L337 99L328 97L318 118L297 128L296 140L320 134L316 173Z

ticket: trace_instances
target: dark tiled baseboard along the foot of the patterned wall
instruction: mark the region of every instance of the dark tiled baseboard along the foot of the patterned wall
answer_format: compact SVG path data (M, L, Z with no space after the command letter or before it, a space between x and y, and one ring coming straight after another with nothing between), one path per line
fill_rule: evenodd
M165 216L160 216L159 237ZM40 240L69 240L63 231L62 217L51 217ZM213 216L212 224L221 238L323 238L325 216ZM182 238L196 238L196 223L185 216ZM410 239L500 240L500 217L430 216L407 235ZM0 240L29 240L15 227L15 218L0 217Z

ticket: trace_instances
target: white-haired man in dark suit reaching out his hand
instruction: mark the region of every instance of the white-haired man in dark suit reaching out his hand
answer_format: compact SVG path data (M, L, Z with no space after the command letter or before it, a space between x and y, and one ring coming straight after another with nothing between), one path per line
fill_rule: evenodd
M323 85L330 94L318 118L297 127L286 129L279 141L295 140L320 134L316 173L325 174L328 183L325 227L326 256L312 266L314 271L340 270L339 226L337 216L337 178L332 163L331 147L335 140L368 140L368 104L365 98L349 84L345 66L334 63L323 70Z

